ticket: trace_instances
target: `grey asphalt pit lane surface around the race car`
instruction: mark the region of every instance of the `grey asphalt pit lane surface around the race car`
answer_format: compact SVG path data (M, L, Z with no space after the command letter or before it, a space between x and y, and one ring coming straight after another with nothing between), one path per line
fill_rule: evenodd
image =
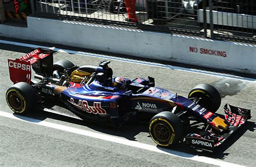
M28 52L28 48L13 49L12 45L0 47L0 69L2 79L0 80L0 108L1 111L12 113L5 102L5 92L12 83L9 79L7 58L15 59ZM14 50L16 52L14 52ZM17 52L18 51L18 52ZM84 64L97 65L103 59L87 57L84 55L55 53L54 61L68 59L78 66ZM211 166L209 161L198 162L183 158L184 155L199 155L198 157L210 157L220 162L239 165L254 166L256 135L255 129L255 82L240 79L226 78L220 76L209 76L195 74L186 71L171 70L160 67L143 66L130 62L111 61L110 67L114 76L127 78L147 77L156 79L156 85L178 92L187 96L193 86L199 83L209 83L219 90L222 96L223 106L226 103L251 108L253 118L245 126L238 130L230 140L215 154L198 154L183 144L172 150L179 151L180 157L157 153L125 144L100 140L95 137L67 132L56 128L30 124L17 119L1 117L0 138L0 164L1 165L107 165L107 166ZM38 111L37 111L38 112ZM218 113L223 114L220 108ZM147 125L133 123L124 125L120 129L101 126L90 122L81 122L74 119L59 117L54 114L32 114L38 120L64 125L89 132L104 134L108 136L136 141L138 143L156 146L148 134ZM182 154L187 153L187 154Z

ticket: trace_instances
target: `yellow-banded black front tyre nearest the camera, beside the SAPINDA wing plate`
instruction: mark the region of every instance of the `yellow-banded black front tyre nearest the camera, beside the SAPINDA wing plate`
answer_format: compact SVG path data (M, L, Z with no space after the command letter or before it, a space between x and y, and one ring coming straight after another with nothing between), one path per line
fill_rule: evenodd
M176 114L160 112L150 120L151 139L159 146L174 146L183 138L184 126Z

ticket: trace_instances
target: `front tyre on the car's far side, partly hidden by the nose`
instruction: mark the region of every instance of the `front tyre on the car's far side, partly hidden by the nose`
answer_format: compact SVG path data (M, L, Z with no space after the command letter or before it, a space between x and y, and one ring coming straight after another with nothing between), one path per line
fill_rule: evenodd
M200 98L198 104L204 106L212 113L215 113L221 104L221 97L218 90L212 85L205 83L195 86L190 93L188 93L188 98L194 98L194 100Z

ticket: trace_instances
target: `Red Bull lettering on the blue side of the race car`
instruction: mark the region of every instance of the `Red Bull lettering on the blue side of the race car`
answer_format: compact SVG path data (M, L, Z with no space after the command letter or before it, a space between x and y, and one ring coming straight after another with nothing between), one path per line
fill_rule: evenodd
M106 114L106 111L102 108L100 102L94 102L93 106L89 106L86 100L79 100L78 104L76 104L75 100L72 97L70 98L69 102L79 110L86 111L87 113L100 114L100 115Z

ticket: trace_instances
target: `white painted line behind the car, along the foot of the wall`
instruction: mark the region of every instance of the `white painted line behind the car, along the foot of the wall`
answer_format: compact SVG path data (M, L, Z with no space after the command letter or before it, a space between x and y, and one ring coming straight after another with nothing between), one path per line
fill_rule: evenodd
M109 56L109 55L104 55L104 54L79 52L79 51L75 51L75 50L59 49L59 48L55 48L55 47L32 45L32 44L29 44L29 43L21 43L21 42L14 42L14 41L0 40L0 43L5 43L5 44L9 44L9 45L16 45L16 46L23 46L23 47L32 47L32 48L41 47L41 48L51 49L51 50L56 51L56 52L78 54L78 55L84 55L84 56L90 56L90 57L97 57L97 58L103 58L103 59L110 59L110 60L117 60L117 61L130 62L130 63L136 63L136 64L143 64L143 65L146 65L146 66L153 66L153 67L167 68L167 69L173 69L173 70L187 71L187 72L199 73L199 74L204 74L204 75L219 76L219 77L225 77L225 78L233 78L233 79L238 79L238 80L241 80L241 81L248 81L248 82L256 83L256 79L253 79L253 78L239 77L239 76L224 74L224 73L220 73L220 72L189 69L189 68L170 66L170 65L160 64L160 63L152 63L152 62L141 61L141 60L126 59L126 58L122 58L122 57L115 57L115 56Z

